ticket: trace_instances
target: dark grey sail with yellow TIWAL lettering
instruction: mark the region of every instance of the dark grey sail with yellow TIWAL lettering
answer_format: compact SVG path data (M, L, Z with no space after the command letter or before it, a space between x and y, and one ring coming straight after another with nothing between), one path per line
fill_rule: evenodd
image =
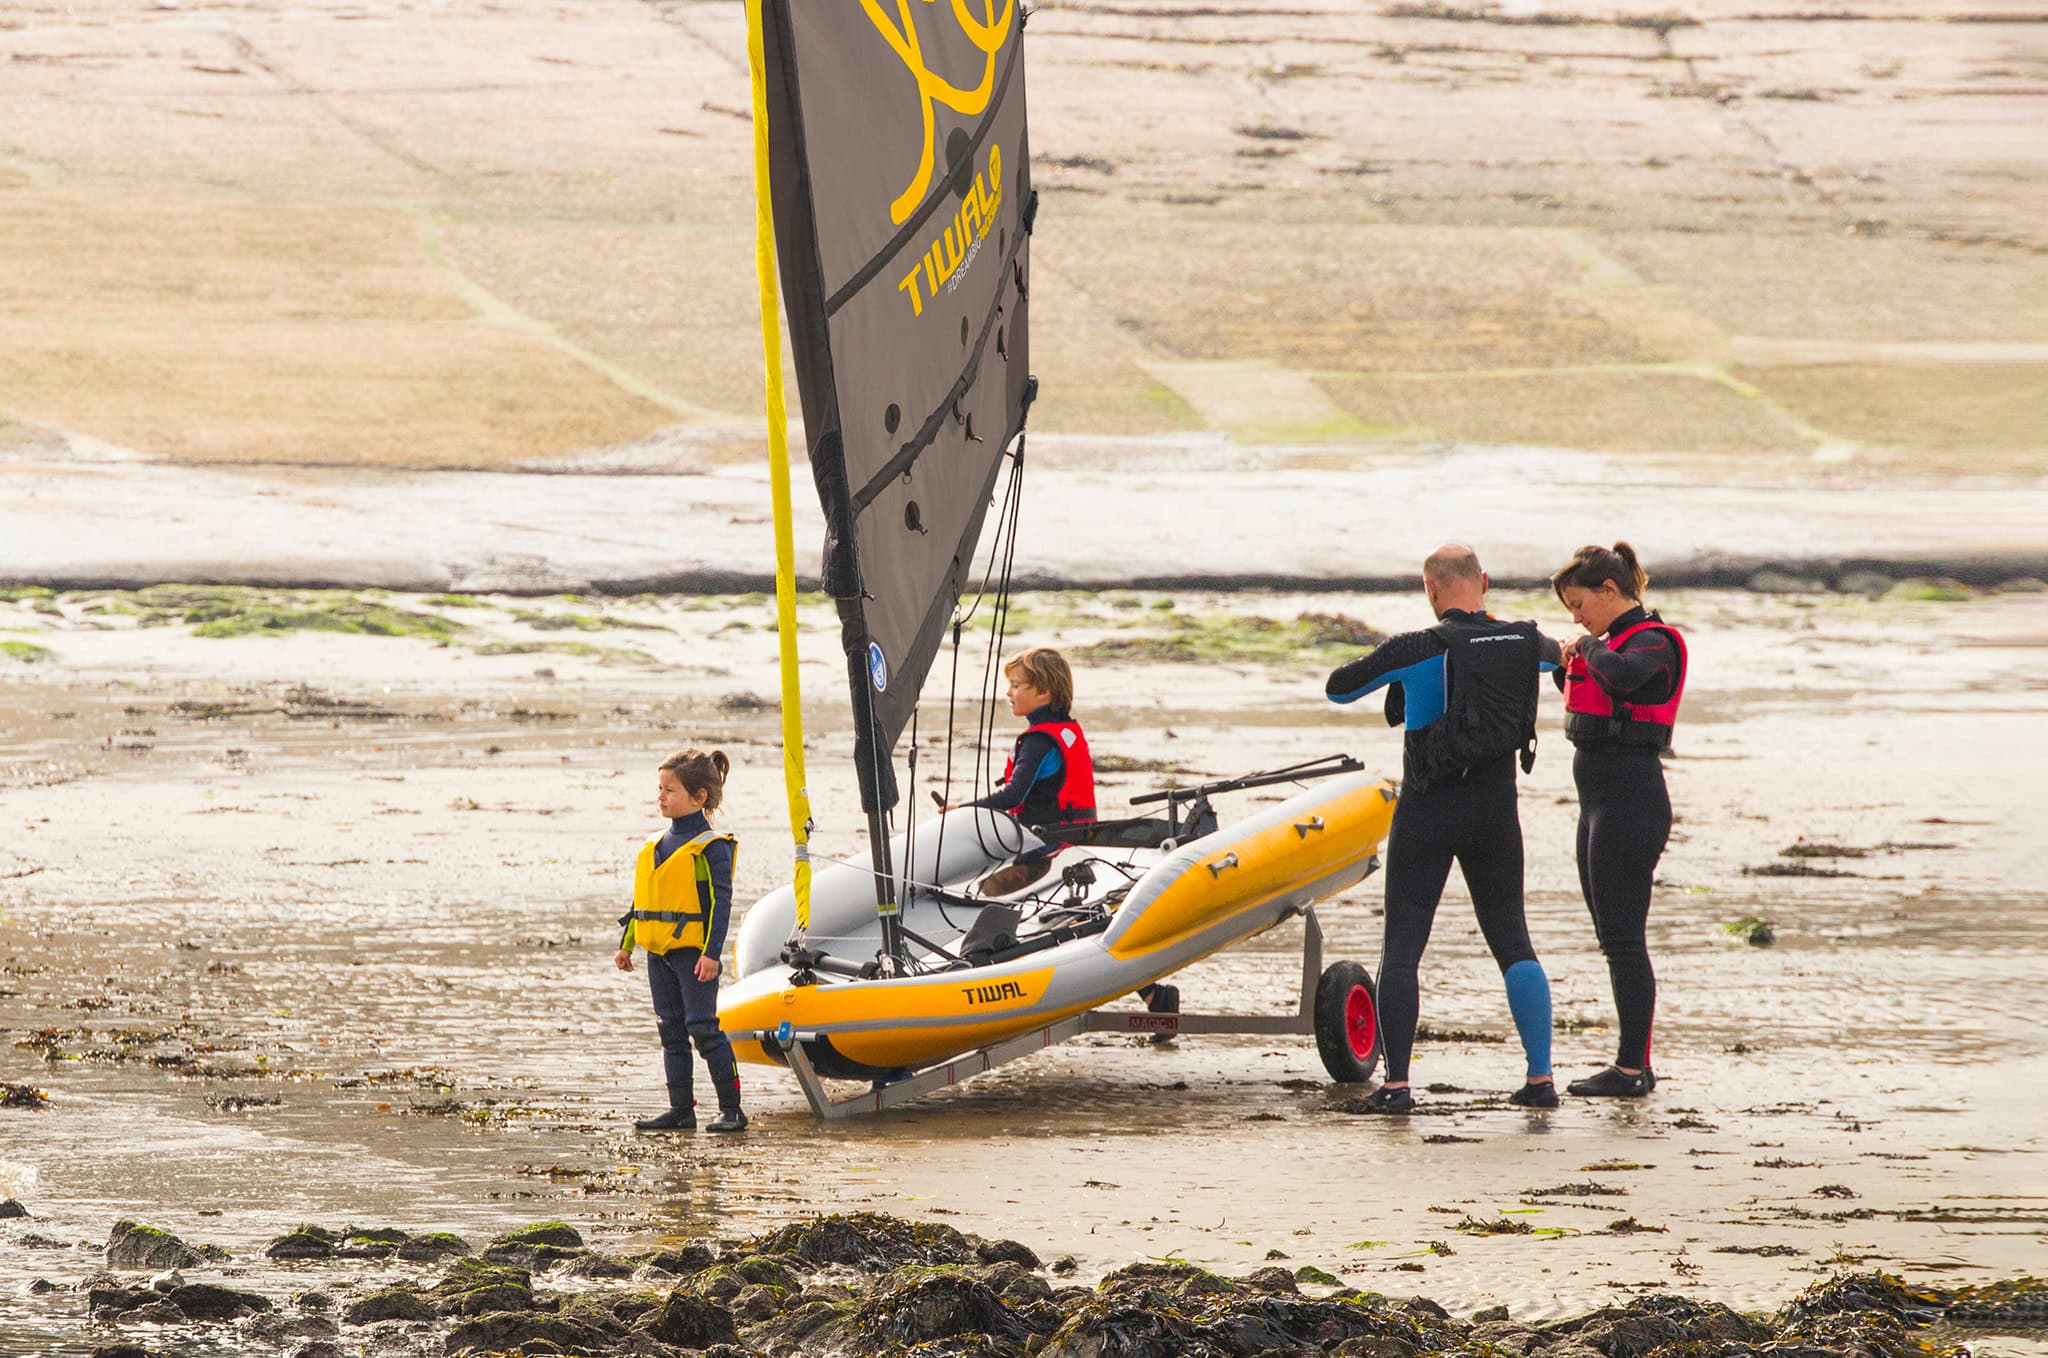
M1028 375L1014 0L764 0L774 236L862 805L969 582Z

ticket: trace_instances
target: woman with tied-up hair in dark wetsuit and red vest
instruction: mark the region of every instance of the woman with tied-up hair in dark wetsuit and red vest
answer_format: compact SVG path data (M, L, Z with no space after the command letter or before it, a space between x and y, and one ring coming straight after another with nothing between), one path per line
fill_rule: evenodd
M1671 838L1663 754L1686 694L1686 639L1642 606L1649 574L1628 543L1581 547L1550 586L1583 637L1563 643L1565 735L1579 784L1579 891L1608 959L1620 1045L1614 1065L1567 1090L1642 1098L1657 1086L1657 973L1645 944L1651 879Z

